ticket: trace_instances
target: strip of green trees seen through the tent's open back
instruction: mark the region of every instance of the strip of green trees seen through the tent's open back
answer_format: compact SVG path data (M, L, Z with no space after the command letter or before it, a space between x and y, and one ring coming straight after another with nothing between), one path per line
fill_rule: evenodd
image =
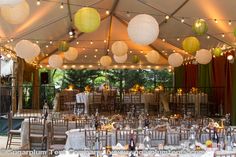
M67 88L73 84L76 89L84 91L86 85L94 88L103 83L109 83L115 88L130 89L135 84L143 85L150 91L157 85L166 87L172 86L172 73L167 70L128 70L128 69L111 69L111 70L52 70L50 72L52 85L61 89Z

